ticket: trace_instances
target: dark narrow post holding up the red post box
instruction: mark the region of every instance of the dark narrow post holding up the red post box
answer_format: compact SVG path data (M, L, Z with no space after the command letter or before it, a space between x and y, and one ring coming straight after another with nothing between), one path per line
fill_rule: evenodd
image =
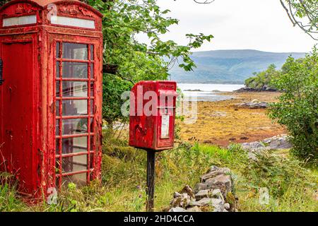
M153 212L155 194L155 151L147 151L147 212Z

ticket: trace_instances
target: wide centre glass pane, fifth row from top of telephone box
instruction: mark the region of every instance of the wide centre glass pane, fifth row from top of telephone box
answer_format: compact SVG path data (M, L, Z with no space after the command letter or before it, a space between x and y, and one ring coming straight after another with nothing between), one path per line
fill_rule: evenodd
M63 120L63 135L88 133L88 119L64 119Z

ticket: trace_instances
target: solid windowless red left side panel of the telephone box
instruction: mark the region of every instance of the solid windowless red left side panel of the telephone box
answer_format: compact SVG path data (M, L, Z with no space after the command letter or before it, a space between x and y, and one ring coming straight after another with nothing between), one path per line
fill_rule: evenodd
M0 168L16 174L19 190L26 194L32 193L30 186L36 175L33 166L36 97L33 50L32 40L0 43L4 79L0 85Z

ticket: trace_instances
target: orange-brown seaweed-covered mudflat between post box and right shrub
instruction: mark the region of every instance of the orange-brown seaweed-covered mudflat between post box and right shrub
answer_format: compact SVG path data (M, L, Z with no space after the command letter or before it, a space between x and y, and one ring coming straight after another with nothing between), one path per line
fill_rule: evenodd
M275 102L280 93L226 93L233 100L198 102L198 118L194 124L181 122L183 141L228 145L245 143L286 133L266 115L266 109L243 109L235 104L259 100ZM179 121L180 123L180 121Z

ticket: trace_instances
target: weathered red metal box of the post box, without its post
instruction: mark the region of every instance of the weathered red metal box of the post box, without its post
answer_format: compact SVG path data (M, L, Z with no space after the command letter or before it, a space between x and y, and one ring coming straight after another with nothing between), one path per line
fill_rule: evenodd
M141 81L134 85L130 98L129 145L148 150L173 148L175 140L175 107L177 83L173 81ZM145 114L148 109L146 92L156 94L155 114ZM151 94L151 93L149 93ZM146 107L145 107L146 106ZM140 112L142 109L142 112ZM151 109L152 110L152 109ZM163 121L165 120L165 121ZM167 136L163 126L167 126Z

